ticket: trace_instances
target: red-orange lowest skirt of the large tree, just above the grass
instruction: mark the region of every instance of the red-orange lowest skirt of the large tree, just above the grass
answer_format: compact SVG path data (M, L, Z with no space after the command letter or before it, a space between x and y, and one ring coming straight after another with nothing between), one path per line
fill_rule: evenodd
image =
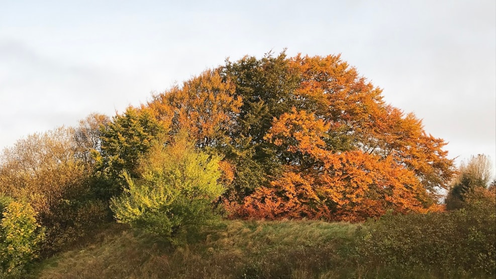
M361 221L395 212L423 212L425 190L415 173L392 158L379 160L361 151L328 152L332 161L302 175L288 171L244 200L241 216L250 218L324 218Z

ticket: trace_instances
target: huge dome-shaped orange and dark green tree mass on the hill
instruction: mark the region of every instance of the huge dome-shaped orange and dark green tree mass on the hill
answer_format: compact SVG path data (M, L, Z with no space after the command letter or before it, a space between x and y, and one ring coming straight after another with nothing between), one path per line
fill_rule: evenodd
M453 174L446 143L381 94L339 55L227 60L114 118L103 161L132 173L150 144L186 129L196 147L223 157L232 216L362 220L433 210ZM131 129L120 130L124 120Z

